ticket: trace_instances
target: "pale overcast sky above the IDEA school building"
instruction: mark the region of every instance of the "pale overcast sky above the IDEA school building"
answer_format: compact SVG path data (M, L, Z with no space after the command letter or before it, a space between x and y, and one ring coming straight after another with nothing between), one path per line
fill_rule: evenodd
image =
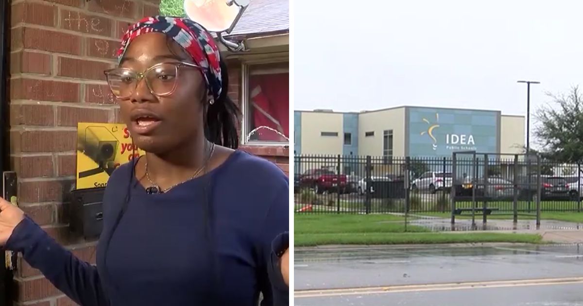
M583 1L293 2L296 110L526 115L517 80L531 111L583 80Z

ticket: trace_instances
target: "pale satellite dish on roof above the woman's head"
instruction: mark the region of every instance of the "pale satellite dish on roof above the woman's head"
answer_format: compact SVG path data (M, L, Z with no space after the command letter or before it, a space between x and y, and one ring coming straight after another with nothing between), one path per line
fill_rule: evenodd
M210 32L229 34L248 5L248 0L185 0L184 12Z

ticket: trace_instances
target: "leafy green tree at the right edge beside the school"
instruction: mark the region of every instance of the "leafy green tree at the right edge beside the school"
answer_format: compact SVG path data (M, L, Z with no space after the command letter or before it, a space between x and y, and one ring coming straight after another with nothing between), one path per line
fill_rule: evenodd
M583 97L575 86L565 95L547 93L553 105L537 110L535 136L542 145L541 153L560 163L583 160Z

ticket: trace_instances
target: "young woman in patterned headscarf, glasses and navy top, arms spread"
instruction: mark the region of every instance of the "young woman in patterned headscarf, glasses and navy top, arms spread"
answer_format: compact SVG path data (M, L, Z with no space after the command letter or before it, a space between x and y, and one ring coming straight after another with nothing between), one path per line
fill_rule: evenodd
M0 243L80 305L288 305L289 181L237 149L237 107L212 37L147 17L106 72L145 156L108 181L96 267L0 202Z

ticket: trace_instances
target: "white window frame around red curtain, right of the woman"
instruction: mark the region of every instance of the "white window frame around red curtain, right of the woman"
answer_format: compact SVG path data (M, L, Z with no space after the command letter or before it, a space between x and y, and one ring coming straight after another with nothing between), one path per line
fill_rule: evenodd
M288 142L266 142L266 141L247 141L247 135L249 132L247 126L247 118L249 112L249 70L250 66L261 65L261 64L279 64L279 63L289 63L289 57L271 58L271 59L255 59L248 60L241 63L241 143L247 146L290 146L292 140ZM265 69L261 71L262 73L274 73L274 72L285 72L289 74L288 68L279 69ZM290 114L291 115L291 114ZM290 135L291 136L291 135ZM288 137L289 138L289 137Z

